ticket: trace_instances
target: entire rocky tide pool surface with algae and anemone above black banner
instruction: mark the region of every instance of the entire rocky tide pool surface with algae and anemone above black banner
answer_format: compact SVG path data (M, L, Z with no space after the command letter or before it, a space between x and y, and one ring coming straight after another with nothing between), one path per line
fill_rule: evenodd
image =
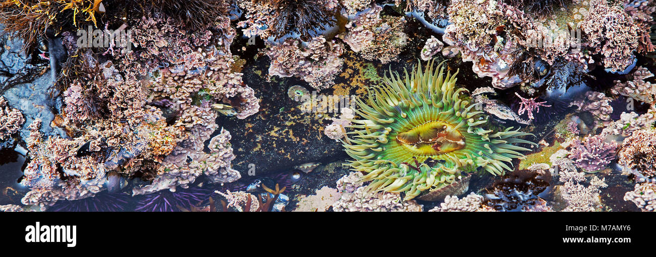
M0 210L655 210L653 1L134 1L0 5Z

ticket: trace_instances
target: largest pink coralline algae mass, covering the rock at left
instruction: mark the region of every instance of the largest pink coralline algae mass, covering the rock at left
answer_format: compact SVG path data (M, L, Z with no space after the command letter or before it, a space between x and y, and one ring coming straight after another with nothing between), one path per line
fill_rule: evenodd
M234 109L221 113L237 118L259 109L255 91L232 69L234 29L228 23L186 31L164 14L134 24L136 49L114 51L113 61L77 51L77 74L53 122L70 138L45 137L40 120L30 125L24 204L45 208L94 196L110 171L148 181L133 194L187 188L201 175L212 183L239 179L230 133L211 137L218 129L215 105Z

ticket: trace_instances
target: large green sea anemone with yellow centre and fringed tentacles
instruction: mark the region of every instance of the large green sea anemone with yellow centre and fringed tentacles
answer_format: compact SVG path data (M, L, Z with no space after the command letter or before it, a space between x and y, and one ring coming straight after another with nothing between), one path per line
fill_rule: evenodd
M476 105L459 97L464 88L455 88L456 75L434 62L405 79L398 73L385 76L385 84L369 88L369 104L358 99L356 112L362 120L352 120L343 142L355 160L348 165L373 180L369 192L405 192L412 199L424 190L438 190L453 182L460 171L479 167L502 175L518 151L529 149L512 144L530 141L517 137L532 135L519 129L485 129L487 117ZM396 76L395 76L396 74ZM350 138L349 138L350 137Z

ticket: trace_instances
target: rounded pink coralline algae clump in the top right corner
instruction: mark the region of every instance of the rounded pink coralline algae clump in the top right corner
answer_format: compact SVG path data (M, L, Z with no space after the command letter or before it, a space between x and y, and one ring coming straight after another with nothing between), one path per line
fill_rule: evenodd
M621 6L613 6L606 0L591 0L581 29L593 52L604 56L605 67L623 71L633 63L638 27Z

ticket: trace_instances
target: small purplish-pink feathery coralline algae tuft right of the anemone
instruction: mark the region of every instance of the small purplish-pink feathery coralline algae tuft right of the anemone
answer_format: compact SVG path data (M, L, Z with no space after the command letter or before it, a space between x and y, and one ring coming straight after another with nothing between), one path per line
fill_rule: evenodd
M567 158L584 171L599 171L615 160L616 148L615 141L607 143L602 135L588 136L583 142L578 139L573 142Z

